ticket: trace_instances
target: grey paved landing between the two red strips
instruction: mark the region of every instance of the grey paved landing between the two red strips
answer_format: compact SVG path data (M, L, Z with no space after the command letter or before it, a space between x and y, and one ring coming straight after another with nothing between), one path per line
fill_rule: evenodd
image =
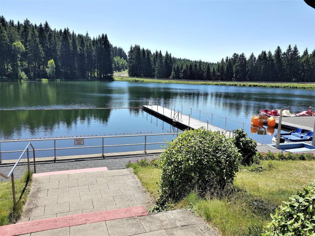
M132 206L150 208L154 200L132 169L33 175L20 221L33 221ZM91 170L89 170L91 171ZM38 174L41 175L41 174Z

